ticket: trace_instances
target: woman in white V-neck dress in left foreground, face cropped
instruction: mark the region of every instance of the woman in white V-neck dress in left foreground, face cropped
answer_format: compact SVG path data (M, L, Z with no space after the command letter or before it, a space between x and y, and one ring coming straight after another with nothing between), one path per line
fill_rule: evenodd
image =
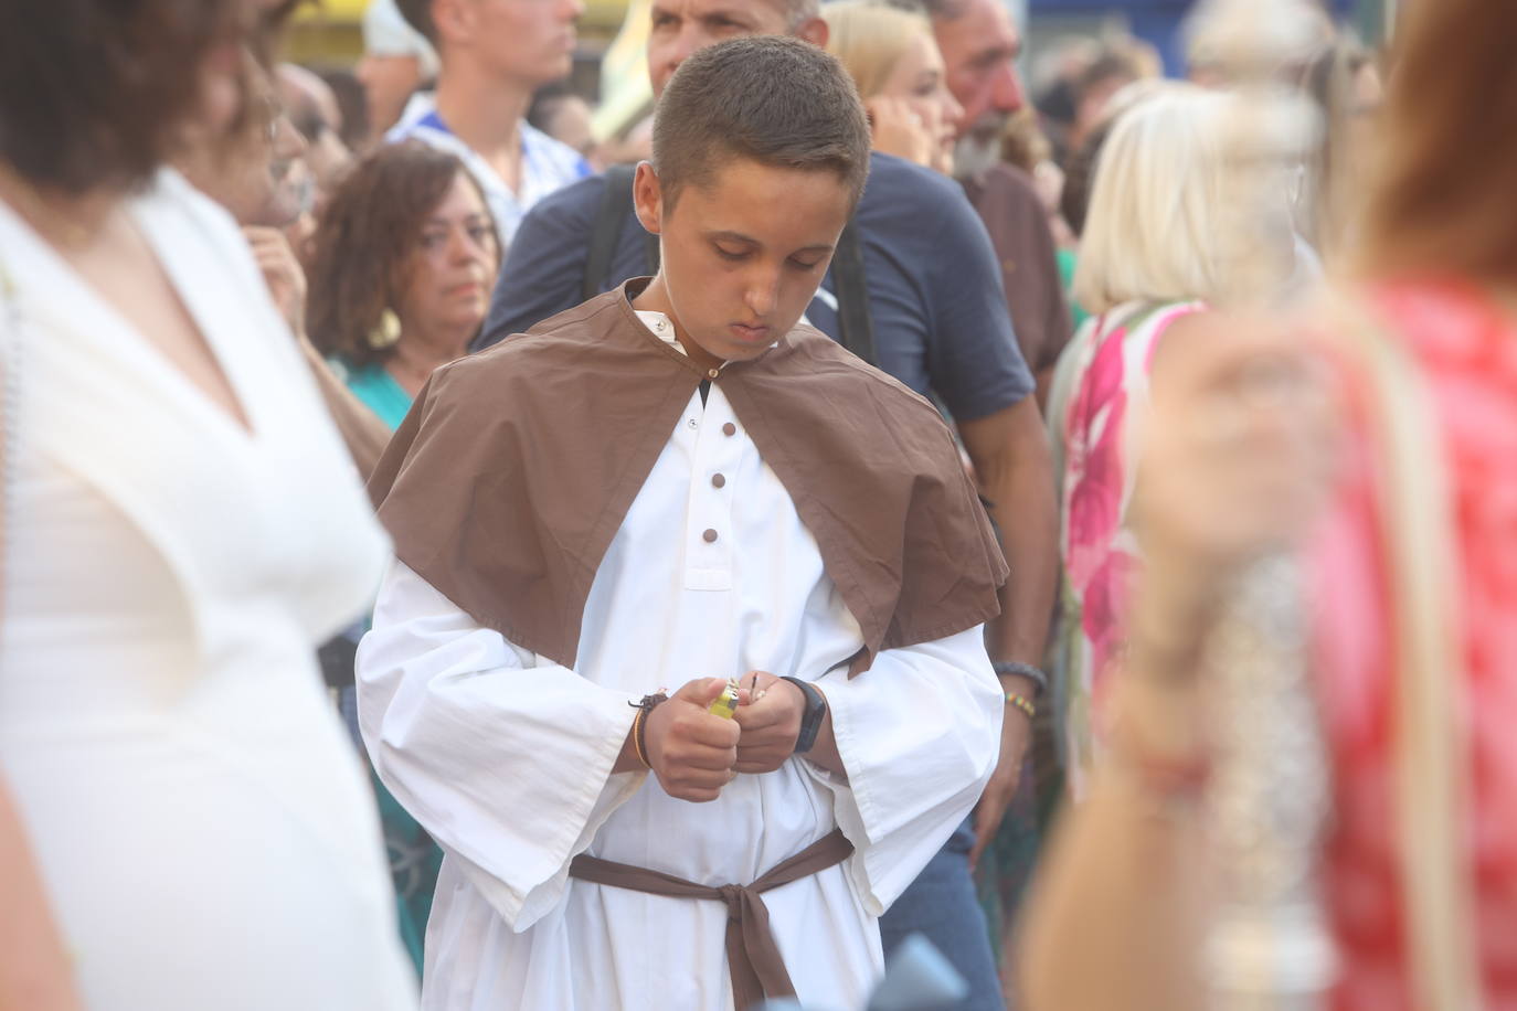
M243 5L0 5L0 1006L414 1006L314 644L387 543L225 212ZM196 86L199 85L199 86Z

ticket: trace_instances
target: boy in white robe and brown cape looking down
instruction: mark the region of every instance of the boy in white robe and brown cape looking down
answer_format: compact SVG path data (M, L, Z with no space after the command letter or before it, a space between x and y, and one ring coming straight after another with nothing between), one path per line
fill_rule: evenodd
M438 370L381 461L360 715L446 852L426 1006L860 1006L994 770L1006 565L953 440L798 326L868 152L815 47L689 58L660 274Z

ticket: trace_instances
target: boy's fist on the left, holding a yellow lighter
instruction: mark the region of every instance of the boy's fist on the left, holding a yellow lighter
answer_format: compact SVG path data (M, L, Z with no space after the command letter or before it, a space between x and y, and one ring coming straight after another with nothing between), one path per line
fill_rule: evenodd
M707 712L725 688L724 678L698 678L648 714L643 726L648 761L671 797L693 803L716 800L737 776L742 728L736 720ZM795 747L795 734L790 746Z

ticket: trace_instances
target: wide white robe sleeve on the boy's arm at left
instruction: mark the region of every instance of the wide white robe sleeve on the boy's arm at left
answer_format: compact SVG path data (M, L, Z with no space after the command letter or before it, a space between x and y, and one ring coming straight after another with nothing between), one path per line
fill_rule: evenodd
M358 649L358 720L385 787L525 931L646 773L611 775L636 711L481 628L393 562Z

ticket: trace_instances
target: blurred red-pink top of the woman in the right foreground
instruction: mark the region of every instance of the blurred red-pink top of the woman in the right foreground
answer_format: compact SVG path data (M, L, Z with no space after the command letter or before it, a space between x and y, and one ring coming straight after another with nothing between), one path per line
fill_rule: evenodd
M1485 1006L1517 1008L1517 321L1452 283L1388 286L1377 300L1415 353L1441 424L1464 649L1464 670L1449 675L1465 679ZM1344 976L1333 1006L1409 1011L1391 809L1393 615L1373 447L1361 437L1350 458L1311 553L1336 794L1327 882Z

